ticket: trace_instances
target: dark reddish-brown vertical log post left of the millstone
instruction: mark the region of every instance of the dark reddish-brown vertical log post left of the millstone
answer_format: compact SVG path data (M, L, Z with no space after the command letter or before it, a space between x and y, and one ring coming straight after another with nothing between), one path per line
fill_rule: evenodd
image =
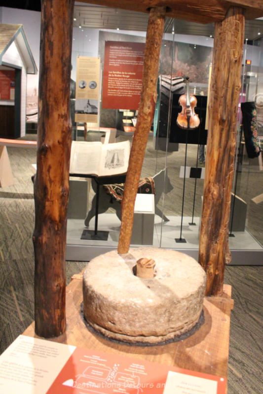
M74 0L44 0L41 12L38 152L34 180L35 331L66 329L65 251L69 163L70 75Z

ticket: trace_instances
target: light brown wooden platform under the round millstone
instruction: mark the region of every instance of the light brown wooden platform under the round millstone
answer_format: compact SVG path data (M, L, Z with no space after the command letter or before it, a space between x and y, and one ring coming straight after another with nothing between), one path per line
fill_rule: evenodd
M80 312L82 300L82 275L78 274L67 286L67 330L59 337L51 338L51 341L227 378L230 312L233 309L231 286L224 285L221 297L205 298L205 323L193 335L183 341L149 347L116 343L88 330ZM37 337L34 322L24 331L24 335Z

